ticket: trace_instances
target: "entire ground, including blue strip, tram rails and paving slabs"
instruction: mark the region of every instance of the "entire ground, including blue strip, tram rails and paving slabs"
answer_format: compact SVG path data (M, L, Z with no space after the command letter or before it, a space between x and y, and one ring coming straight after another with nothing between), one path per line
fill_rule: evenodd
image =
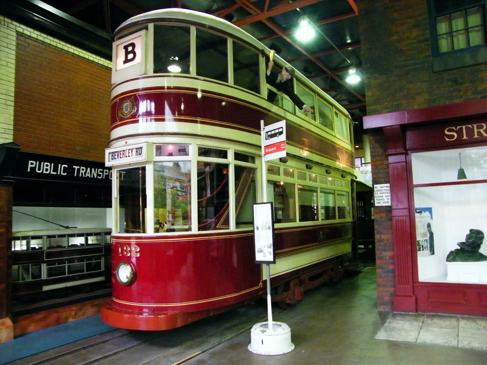
M248 350L252 326L266 320L265 301L169 331L115 329L94 316L0 344L0 364L487 364L487 318L378 312L374 266L273 308L291 328L291 352Z

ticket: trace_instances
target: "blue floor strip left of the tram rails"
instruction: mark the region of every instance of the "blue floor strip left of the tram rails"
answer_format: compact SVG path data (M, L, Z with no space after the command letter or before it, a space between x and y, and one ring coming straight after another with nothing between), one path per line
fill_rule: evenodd
M101 321L100 315L95 315L27 333L13 341L0 344L0 365L112 329L115 327L106 325ZM28 346L26 346L27 344Z

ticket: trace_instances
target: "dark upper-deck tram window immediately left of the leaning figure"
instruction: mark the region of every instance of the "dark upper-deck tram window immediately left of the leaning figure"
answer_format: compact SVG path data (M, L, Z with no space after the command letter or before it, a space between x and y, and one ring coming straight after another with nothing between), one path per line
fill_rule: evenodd
M260 93L259 54L244 45L233 42L233 83Z

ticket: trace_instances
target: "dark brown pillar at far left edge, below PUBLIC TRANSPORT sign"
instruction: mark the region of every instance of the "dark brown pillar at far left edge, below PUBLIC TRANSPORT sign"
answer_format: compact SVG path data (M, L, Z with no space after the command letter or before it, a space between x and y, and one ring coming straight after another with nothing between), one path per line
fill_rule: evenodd
M0 343L14 339L11 315L13 182L0 181Z

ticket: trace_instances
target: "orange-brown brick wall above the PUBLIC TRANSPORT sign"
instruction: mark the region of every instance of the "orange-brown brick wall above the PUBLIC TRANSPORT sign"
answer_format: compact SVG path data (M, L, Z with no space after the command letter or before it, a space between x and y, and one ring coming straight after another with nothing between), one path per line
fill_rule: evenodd
M22 151L104 161L111 70L17 37L14 142Z

